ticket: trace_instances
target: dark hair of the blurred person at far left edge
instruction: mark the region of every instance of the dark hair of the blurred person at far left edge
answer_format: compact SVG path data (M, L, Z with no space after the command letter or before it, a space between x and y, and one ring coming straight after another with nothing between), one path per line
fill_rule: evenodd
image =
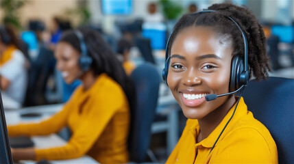
M10 25L1 25L0 29L1 42L3 42L3 38L5 37L6 40L3 42L4 44L13 44L20 51L23 50L19 38L16 37L14 29L12 29Z

